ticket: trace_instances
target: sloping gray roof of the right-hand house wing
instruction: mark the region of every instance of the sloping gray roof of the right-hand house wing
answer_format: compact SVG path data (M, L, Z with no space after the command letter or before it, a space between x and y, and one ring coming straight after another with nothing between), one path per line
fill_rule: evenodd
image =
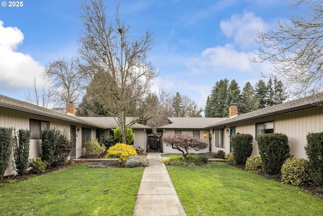
M309 109L309 108L322 106L322 105L323 105L323 93L318 93L305 98L300 98L286 103L244 113L236 117L221 121L219 123L214 123L213 125L209 125L208 127L205 127L205 128L224 126L226 124L232 124L232 123L243 122L243 121L273 116L273 115L279 115L279 114L294 112L294 111L303 110L303 109Z

